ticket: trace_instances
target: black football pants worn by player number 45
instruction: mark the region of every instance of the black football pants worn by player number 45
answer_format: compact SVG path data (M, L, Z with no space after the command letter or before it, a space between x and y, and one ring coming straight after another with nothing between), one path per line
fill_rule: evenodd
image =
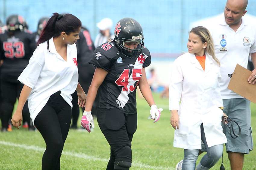
M124 114L120 109L100 109L97 121L110 145L107 170L113 170L119 161L132 162L131 142L137 129L137 114ZM125 169L129 169L126 167Z

